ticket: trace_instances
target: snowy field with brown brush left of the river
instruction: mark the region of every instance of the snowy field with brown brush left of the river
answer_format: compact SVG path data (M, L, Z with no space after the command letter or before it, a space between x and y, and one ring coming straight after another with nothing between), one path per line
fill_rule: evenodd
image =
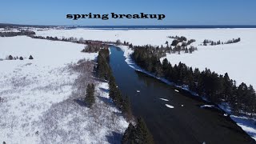
M86 84L95 80L90 67L82 72L74 67L80 59L94 60L98 54L81 53L82 49L71 42L0 38L0 142L120 140L128 123L110 102L106 82L96 82L94 109L83 106ZM9 55L24 60L5 60Z

